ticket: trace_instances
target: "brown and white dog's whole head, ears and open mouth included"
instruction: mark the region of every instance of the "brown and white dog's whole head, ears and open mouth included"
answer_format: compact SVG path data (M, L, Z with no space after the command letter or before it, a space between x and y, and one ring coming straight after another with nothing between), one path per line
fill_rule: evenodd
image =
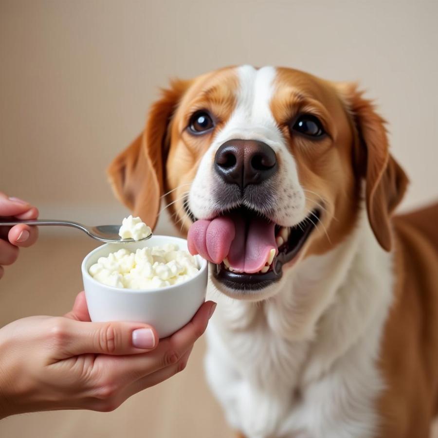
M389 250L389 215L407 183L383 120L354 86L251 66L174 82L110 177L152 225L168 192L219 290L250 299L348 236L364 181L371 227Z

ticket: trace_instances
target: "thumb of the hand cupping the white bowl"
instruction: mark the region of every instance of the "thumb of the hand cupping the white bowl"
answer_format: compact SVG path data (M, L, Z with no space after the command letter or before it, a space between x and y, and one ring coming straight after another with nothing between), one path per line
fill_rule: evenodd
M57 347L56 359L85 353L125 355L146 353L158 345L155 329L128 322L92 323L54 318L51 330Z

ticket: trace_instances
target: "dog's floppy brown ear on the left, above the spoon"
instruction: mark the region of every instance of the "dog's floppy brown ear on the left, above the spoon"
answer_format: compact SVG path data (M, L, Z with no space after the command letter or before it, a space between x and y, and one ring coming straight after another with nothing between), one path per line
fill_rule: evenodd
M174 80L148 114L146 128L108 168L116 197L151 228L158 219L169 146L169 125L189 81Z

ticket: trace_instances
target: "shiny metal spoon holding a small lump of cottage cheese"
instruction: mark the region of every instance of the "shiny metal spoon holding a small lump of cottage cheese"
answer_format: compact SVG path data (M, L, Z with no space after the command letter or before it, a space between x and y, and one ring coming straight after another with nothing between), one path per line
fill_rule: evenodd
M147 240L152 237L152 233L139 240L134 239L122 239L119 236L120 225L97 225L95 227L89 227L78 222L71 222L70 220L53 220L53 219L36 219L36 220L9 220L2 221L0 219L0 225L12 226L24 223L26 225L62 225L65 227L79 228L79 230L84 231L90 237L101 242L108 243L131 243L139 242L140 240Z

